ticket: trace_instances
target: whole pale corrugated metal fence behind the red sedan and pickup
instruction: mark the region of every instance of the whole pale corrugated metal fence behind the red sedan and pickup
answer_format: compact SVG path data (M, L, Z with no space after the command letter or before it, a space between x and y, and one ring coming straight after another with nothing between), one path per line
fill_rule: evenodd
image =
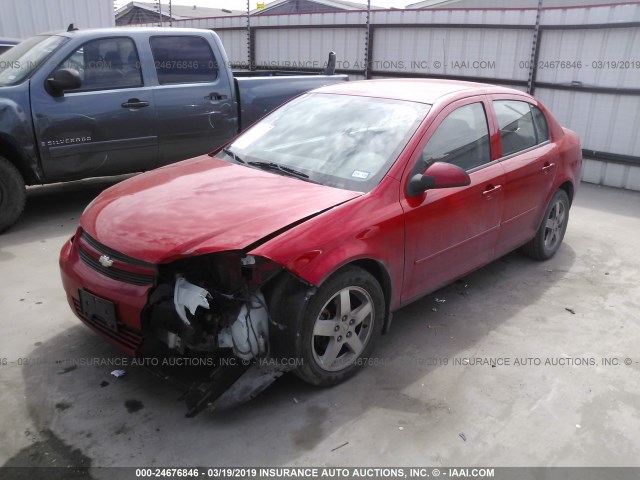
M459 78L526 91L531 75L535 95L580 135L583 179L640 190L640 4L543 10L531 69L536 14L376 10L368 26L361 11L261 15L250 19L251 42L246 17L174 25L216 30L231 63L256 68L317 71L333 50L352 79Z

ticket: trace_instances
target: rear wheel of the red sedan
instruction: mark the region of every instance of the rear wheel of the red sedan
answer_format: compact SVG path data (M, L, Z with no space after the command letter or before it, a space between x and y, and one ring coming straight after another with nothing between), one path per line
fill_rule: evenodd
M568 223L569 197L560 189L551 197L536 236L522 247L522 251L536 260L550 259L560 249Z

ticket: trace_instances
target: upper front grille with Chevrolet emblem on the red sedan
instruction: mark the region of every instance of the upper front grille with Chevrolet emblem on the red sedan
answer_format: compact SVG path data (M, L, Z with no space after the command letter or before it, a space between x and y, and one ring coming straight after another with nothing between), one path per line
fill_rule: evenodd
M150 285L153 283L156 272L154 265L116 252L112 248L97 242L84 231L80 234L80 238L81 242L78 247L78 254L80 259L92 269L100 272L105 277L133 285ZM92 255L90 249L83 246L83 243L95 252L94 255ZM122 265L105 267L98 259L100 255L107 255L111 260L115 260ZM96 256L98 256L98 258L96 258ZM144 268L148 273L128 270L129 267L136 270Z

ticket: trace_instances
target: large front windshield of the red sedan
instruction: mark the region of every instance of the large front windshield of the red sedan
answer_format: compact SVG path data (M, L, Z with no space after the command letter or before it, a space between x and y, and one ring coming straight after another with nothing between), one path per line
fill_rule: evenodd
M313 93L276 110L216 157L331 187L368 192L430 105Z

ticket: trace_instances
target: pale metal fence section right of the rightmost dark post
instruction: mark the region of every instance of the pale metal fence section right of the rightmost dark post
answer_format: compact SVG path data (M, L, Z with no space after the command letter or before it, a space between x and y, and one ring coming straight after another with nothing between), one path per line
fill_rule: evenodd
M543 12L540 60L580 64L539 68L535 95L580 136L583 181L640 190L640 163L635 162L640 158L638 22L637 3Z

